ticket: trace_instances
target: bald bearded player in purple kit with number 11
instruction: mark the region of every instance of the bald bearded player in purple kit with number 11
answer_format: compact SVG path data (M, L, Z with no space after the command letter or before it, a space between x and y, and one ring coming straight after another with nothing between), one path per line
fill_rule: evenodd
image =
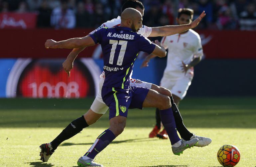
M185 149L198 142L198 139L182 141L179 138L168 96L161 95L152 89L130 86L130 73L140 51L152 53L158 57L166 56L164 47L158 41L154 44L136 33L141 26L141 13L136 9L128 8L121 14L120 26L102 28L83 38L72 38L60 42L48 40L45 44L46 48L70 49L100 43L103 51L105 81L102 87L102 98L110 109L110 127L101 133L85 155L78 159L79 166L102 166L95 163L93 159L123 132L128 108L158 107L174 154L180 155ZM78 132L85 126L84 124L83 116L71 122L72 128L77 129Z

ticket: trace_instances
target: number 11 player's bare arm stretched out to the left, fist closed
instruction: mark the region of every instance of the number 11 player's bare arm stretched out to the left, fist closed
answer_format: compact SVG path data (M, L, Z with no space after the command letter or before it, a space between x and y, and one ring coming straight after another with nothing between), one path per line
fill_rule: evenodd
M82 38L70 38L64 41L56 42L52 39L48 39L45 42L46 49L53 48L66 48L66 49L74 49L95 45L95 42L90 36L85 36Z

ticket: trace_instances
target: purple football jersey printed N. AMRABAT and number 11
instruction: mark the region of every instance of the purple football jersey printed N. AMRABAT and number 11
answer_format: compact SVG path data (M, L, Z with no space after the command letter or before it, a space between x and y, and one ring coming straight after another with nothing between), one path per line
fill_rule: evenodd
M128 27L101 28L89 35L101 44L105 81L103 86L128 89L133 63L140 51L151 54L155 44Z

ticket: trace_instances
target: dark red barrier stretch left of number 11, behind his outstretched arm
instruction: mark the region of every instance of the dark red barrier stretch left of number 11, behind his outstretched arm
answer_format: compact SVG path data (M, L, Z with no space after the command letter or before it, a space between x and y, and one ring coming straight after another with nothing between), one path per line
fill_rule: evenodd
M46 49L47 39L65 40L74 37L86 36L89 29L3 29L0 30L1 54L0 57L10 58L65 58L70 49ZM80 57L91 57L95 46L86 48Z

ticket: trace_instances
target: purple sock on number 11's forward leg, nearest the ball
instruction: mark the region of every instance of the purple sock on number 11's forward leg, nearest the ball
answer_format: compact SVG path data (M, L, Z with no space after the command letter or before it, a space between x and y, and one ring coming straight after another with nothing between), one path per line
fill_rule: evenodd
M179 142L181 139L179 138L176 130L176 124L174 120L173 110L172 108L160 110L161 121L167 131L171 144L175 144Z

